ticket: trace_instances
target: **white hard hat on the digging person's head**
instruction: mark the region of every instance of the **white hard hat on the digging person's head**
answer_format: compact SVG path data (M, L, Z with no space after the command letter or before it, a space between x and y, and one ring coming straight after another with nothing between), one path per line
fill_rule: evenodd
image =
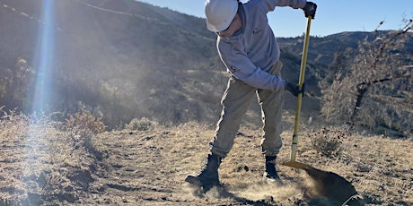
M206 27L214 32L225 30L230 26L237 11L237 0L206 0Z

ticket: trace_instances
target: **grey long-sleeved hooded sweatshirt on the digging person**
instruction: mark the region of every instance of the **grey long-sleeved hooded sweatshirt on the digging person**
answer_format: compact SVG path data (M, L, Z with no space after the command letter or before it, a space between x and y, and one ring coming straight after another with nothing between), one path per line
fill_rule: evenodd
M280 77L267 71L277 62L280 50L268 25L267 13L276 6L303 8L306 0L250 0L239 4L242 29L232 37L219 36L216 47L228 72L242 82L263 90L278 90Z

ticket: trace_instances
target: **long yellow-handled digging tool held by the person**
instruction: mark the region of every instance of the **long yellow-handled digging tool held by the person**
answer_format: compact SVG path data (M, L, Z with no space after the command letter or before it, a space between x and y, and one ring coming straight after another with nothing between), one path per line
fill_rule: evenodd
M309 16L307 19L307 30L305 32L304 46L303 46L303 56L301 59L301 70L300 70L300 80L298 83L298 90L303 90L304 75L305 75L305 64L307 62L307 51L308 51L308 40L310 39L310 26L312 24L312 17ZM301 102L303 99L303 92L300 92L297 96L297 109L295 113L295 123L294 123L294 134L293 134L293 143L291 145L291 160L283 165L287 167L294 168L306 168L312 167L310 165L295 161L297 155L297 144L298 144L298 123L300 122L300 112L301 112Z

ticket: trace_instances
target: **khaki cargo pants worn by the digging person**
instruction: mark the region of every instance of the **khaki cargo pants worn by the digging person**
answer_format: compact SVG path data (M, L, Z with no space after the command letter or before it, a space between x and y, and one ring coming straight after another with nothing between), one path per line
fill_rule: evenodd
M279 75L283 64L277 61L268 73ZM284 104L283 90L258 90L249 84L237 80L233 76L228 81L221 104L223 110L219 119L215 136L210 142L211 151L224 158L233 148L233 140L238 133L242 116L250 106L254 94L257 95L263 122L262 153L276 156L281 149L282 133L281 117Z

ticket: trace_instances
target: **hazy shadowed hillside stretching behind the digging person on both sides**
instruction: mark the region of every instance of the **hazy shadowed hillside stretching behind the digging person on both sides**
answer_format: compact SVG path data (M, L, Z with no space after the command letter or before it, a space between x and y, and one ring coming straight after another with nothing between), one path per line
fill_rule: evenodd
M53 4L46 18L43 2L0 3L0 106L33 112L33 88L44 81L36 79L44 75L40 57L50 55L46 74L51 79L47 92L51 100L43 108L46 113L70 115L85 108L101 116L110 129L141 117L163 124L215 124L228 73L217 56L215 34L206 30L204 19L135 0L49 1ZM53 34L46 38L53 40L48 42L52 53L48 55L40 49L41 34L47 28ZM310 39L305 118L319 115L319 82L329 72L336 52L355 48L370 34L343 32ZM283 78L297 82L303 38L278 41ZM23 68L21 62L26 63ZM18 70L25 72L13 73ZM10 73L15 76L9 77ZM14 81L10 85L17 86L4 83L10 80ZM286 94L288 111L294 111L295 100ZM259 126L259 115L254 101L244 124Z

